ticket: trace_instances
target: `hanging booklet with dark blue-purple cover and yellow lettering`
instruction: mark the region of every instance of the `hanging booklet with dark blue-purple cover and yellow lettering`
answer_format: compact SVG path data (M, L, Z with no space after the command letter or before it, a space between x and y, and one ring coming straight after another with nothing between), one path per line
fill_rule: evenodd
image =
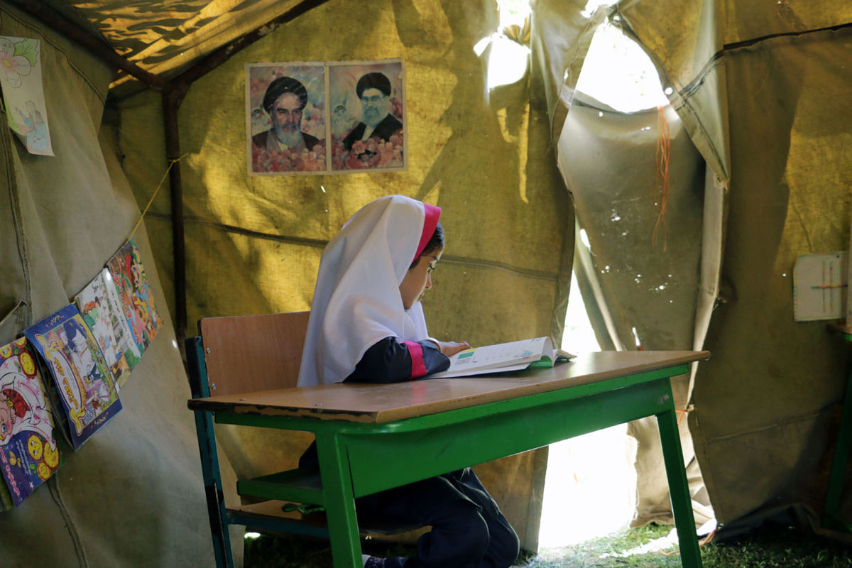
M101 347L73 304L28 327L24 335L53 376L76 450L121 410Z

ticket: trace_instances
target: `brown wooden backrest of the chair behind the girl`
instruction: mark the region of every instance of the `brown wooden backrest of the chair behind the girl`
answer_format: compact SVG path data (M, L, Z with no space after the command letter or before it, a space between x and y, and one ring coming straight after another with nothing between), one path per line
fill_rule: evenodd
M199 321L210 395L296 387L310 312Z

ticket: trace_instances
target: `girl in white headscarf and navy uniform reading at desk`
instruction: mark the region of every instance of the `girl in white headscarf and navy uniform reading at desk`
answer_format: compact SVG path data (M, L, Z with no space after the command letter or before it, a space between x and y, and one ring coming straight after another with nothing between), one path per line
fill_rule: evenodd
M392 195L364 206L325 247L299 386L400 382L449 366L464 341L429 337L420 300L444 252L440 208ZM317 464L316 446L302 467ZM411 558L364 556L366 568L508 568L518 537L470 468L355 502L360 519L431 525Z

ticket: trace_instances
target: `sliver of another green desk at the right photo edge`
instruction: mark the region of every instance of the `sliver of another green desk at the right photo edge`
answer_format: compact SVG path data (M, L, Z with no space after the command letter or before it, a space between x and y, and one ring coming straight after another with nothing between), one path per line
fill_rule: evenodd
M840 334L846 341L852 341L852 328L830 324L828 329ZM850 366L849 375L846 378L838 440L834 445L832 469L828 475L826 504L822 508L822 525L835 531L852 532L852 523L840 516L840 498L843 496L843 482L846 479L846 465L849 462L850 449L852 449L852 366Z

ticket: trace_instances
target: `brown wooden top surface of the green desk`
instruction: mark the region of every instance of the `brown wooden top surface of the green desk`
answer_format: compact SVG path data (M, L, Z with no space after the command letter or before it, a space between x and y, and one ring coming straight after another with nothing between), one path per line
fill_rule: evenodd
M337 383L319 387L283 388L190 399L188 406L192 410L384 423L634 376L709 357L707 351L581 353L576 359L557 364L552 369L385 385Z

